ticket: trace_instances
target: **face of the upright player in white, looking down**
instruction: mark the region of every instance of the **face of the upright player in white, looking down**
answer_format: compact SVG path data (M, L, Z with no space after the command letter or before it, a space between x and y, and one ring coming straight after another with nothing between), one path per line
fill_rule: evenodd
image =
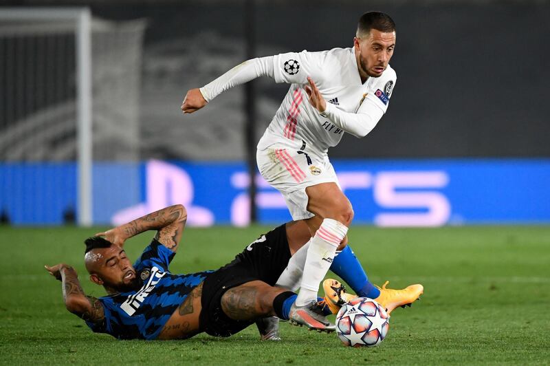
M368 36L353 39L358 68L362 76L377 78L388 67L395 48L395 32L371 30Z

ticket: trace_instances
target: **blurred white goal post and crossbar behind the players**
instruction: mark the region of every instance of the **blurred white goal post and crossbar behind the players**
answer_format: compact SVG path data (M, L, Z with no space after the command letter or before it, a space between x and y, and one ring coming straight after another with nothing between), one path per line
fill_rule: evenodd
M91 12L89 8L0 8L0 21L71 21L76 34L78 224L92 224Z

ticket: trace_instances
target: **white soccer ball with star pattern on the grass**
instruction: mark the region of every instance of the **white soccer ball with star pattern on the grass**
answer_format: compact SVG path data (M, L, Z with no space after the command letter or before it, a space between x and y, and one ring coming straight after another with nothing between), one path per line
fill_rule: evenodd
M345 303L336 315L336 334L344 345L372 347L384 341L390 316L373 299L356 297Z

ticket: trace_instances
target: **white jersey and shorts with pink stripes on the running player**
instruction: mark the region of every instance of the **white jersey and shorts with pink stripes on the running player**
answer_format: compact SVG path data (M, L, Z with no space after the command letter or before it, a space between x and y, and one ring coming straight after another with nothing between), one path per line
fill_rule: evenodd
M395 72L388 65L380 77L362 83L353 48L303 51L245 61L200 91L210 102L259 76L292 85L258 144L258 169L283 194L294 220L313 217L307 211L307 187L338 184L327 155L329 147L336 146L344 132L363 137L372 131L388 109ZM308 76L327 102L322 113L307 100Z

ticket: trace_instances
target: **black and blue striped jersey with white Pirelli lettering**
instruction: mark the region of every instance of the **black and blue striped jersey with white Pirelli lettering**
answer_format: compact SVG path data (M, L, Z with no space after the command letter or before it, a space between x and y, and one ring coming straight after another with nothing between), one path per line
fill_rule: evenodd
M86 322L94 332L119 339L155 339L189 292L212 271L173 275L168 270L175 252L156 239L145 248L133 267L142 279L140 290L101 297L104 319Z

